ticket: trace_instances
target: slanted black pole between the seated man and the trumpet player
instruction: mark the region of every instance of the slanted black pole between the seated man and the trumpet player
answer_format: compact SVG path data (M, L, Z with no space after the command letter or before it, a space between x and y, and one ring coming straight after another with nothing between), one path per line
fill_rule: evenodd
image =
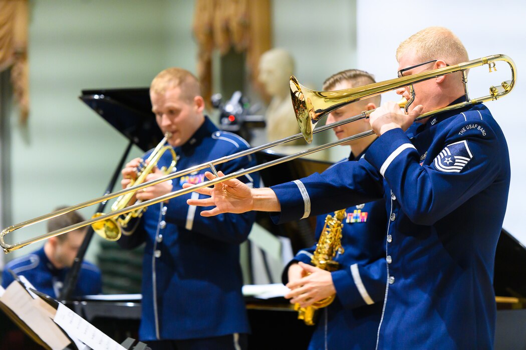
M133 141L130 140L128 143L128 146L126 147L126 150L124 151L123 156L120 158L119 164L117 165L117 168L115 169L115 172L113 173L112 179L110 180L108 187L106 188L105 195L112 192L113 187L115 186L115 183L117 182L117 178L120 174L120 170L123 168L124 162L126 161L126 158L128 156L128 153L131 149L131 145L133 145ZM97 208L97 211L95 213L103 213L104 207L106 206L107 201L103 201L99 203L99 206ZM89 246L89 242L92 240L94 231L92 226L90 225L88 227L88 231L86 232L86 236L84 237L84 240L82 241L82 245L78 249L77 256L75 257L75 260L73 261L73 266L69 269L68 273L66 274L66 278L64 280L64 287L62 288L62 291L60 291L60 295L58 295L58 300L69 300L71 298L71 295L73 291L75 290L75 286L77 285L77 279L78 279L78 272L80 271L80 266L82 266L82 262L84 261L84 256L86 255L86 251Z

